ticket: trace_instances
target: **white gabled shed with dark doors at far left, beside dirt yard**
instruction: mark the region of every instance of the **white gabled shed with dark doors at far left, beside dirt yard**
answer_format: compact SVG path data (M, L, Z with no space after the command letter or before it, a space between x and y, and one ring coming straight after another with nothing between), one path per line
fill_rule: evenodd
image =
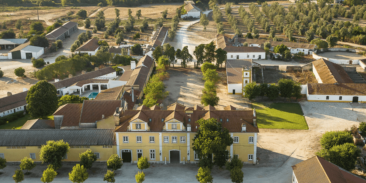
M44 48L29 44L30 42L26 42L12 49L8 52L8 59L38 59L44 53Z

